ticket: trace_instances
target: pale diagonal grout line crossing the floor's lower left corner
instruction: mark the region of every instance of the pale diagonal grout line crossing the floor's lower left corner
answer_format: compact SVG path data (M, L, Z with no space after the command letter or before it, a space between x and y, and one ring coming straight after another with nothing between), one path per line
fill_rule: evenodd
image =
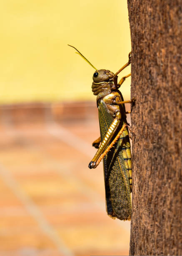
M41 211L35 205L35 203L28 197L17 181L12 177L11 173L0 165L0 176L5 184L13 191L16 197L23 203L30 215L36 220L41 230L53 241L57 250L64 256L74 256L74 254L68 249L61 238L57 235L52 226L42 215Z

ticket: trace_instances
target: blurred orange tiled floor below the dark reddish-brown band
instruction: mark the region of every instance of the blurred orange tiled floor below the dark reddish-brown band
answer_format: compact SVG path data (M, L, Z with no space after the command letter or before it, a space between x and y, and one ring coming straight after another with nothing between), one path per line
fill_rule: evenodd
M130 222L105 212L97 120L0 126L0 256L128 255Z

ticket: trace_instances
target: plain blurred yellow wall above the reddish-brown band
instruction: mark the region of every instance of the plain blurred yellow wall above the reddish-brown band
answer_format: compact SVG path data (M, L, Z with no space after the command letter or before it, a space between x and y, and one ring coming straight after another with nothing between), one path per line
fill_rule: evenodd
M131 50L127 0L1 1L0 33L1 103L95 100L94 69L67 44L113 72Z

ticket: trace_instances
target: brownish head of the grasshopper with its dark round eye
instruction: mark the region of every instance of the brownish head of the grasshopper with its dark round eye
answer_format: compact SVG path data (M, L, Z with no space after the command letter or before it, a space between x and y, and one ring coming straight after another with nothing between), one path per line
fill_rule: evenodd
M100 82L112 82L115 74L107 69L96 70L93 74L93 81L95 83Z

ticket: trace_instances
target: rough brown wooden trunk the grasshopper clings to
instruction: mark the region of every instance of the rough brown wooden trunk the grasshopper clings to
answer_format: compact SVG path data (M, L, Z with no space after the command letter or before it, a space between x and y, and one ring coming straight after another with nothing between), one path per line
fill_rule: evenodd
M182 255L182 0L128 0L130 255Z

